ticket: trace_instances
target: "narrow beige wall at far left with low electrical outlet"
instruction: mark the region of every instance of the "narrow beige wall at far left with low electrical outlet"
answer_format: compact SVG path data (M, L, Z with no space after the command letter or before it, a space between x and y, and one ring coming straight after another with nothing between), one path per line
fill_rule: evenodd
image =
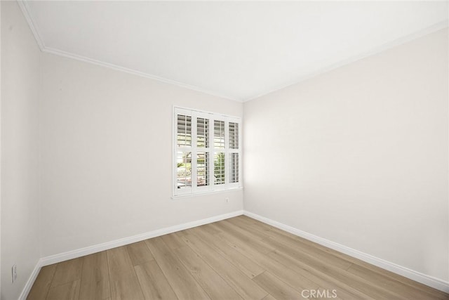
M1 299L18 299L41 257L41 53L15 1L1 1ZM16 263L18 280L11 283Z

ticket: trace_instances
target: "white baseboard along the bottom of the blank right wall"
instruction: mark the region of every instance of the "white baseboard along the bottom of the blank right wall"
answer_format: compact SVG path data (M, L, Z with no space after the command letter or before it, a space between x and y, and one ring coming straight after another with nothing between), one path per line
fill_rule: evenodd
M435 289L439 289L440 291L449 293L449 282L434 278L432 276L417 272L415 270L411 270L409 268L399 266L396 263L391 263L389 261L385 261L384 259L380 259L378 257L372 256L370 254L366 254L360 252L356 249L352 249L346 247L342 244L338 244L337 242L332 242L330 240L326 240L323 237L319 237L316 235L312 235L311 233L307 233L305 231L299 230L297 228L293 228L286 224L280 223L278 221L274 221L272 219L265 218L264 216L259 216L258 214L253 214L250 211L243 211L243 214L249 216L250 218L261 221L262 223L267 223L271 226L279 228L281 230L287 231L288 233L292 233L293 235L297 235L299 237L304 237L307 240L312 242L316 242L317 244L321 244L330 249L334 249L338 252L342 252L349 256L355 257L356 259L360 259L361 261L366 261L367 263L371 263L374 266L378 266L385 270L389 270L398 275L402 275L406 278L410 278L411 280L415 280L417 282L421 282L424 285L428 285L429 287L434 287Z

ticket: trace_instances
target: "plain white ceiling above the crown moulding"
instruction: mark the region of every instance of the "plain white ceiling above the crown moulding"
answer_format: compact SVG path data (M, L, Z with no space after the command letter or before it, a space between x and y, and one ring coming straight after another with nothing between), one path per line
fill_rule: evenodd
M448 25L448 1L27 1L22 10L43 51L234 100Z

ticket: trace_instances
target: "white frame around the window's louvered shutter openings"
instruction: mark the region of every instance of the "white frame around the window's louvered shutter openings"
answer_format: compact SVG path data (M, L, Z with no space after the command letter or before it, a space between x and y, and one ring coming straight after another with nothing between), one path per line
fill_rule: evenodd
M172 168L173 168L173 198L177 197L185 197L192 196L196 194L202 193L215 193L225 190L232 190L242 188L242 126L241 126L241 118L232 117L227 115L221 115L214 112L204 112L201 110L195 110L191 108L185 107L177 107L173 106L173 155L172 155ZM177 146L177 115L187 115L192 117L192 145L186 147L178 147ZM197 119L203 118L209 120L209 147L208 148L199 148L197 146ZM215 120L224 121L225 122L225 148L214 148L214 122ZM239 124L239 141L238 141L238 149L230 149L229 148L229 122ZM192 176L192 186L189 188L177 188L177 152L191 152L191 176ZM196 166L196 155L198 152L209 152L209 184L203 186L197 186L197 166ZM214 180L214 155L217 152L225 153L225 183L215 184ZM230 156L231 153L239 154L239 182L231 183L231 172L230 172Z

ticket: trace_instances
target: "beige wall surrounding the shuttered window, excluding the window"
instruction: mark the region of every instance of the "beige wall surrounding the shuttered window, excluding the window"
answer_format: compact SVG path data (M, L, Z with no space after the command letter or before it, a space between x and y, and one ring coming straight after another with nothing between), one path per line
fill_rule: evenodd
M242 103L51 54L42 70L43 256L243 209L241 190L170 199L173 105Z

